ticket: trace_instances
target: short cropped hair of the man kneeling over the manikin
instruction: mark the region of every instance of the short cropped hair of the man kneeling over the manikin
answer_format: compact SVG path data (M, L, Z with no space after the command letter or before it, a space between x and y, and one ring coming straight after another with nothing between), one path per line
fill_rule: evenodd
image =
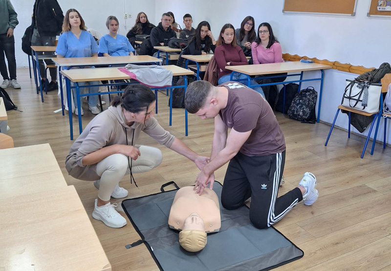
M198 80L189 84L185 95L185 108L190 114L195 114L201 109L211 93L213 85L208 81Z

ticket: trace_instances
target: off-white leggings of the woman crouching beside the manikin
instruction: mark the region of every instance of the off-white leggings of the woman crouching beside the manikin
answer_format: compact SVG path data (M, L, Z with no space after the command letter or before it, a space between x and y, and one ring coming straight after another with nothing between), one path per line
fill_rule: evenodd
M132 173L141 173L160 165L163 156L158 148L149 146L138 147L141 155L131 163ZM131 159L131 158L129 158ZM98 197L103 201L109 201L114 188L125 175L130 174L130 160L128 156L120 153L110 155L98 162L96 173L101 177Z

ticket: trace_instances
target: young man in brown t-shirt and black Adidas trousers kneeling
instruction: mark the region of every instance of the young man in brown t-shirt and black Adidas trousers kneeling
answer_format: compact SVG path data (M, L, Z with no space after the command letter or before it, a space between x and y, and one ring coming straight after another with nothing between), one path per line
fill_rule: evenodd
M318 199L316 178L309 172L299 187L277 198L285 139L273 110L258 92L238 82L216 87L195 81L186 90L185 107L201 119L215 119L211 160L196 179L198 194L208 184L213 187L215 170L229 162L221 203L235 209L251 197L250 220L257 228L270 227L302 200L312 205Z

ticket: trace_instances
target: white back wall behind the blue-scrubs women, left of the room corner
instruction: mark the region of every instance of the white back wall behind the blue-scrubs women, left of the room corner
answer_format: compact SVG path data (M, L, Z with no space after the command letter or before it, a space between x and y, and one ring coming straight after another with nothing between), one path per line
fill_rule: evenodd
M136 16L140 11L147 14L148 19L154 23L155 0L57 0L65 12L74 8L80 12L87 28L93 28L103 35L108 33L106 19L110 15L118 18L121 35L126 35L129 29L134 25ZM22 51L22 36L25 29L31 24L31 15L35 0L11 0L16 12L18 13L19 24L15 28L15 56L18 67L28 67L27 55ZM124 13L131 15L130 19L125 20Z

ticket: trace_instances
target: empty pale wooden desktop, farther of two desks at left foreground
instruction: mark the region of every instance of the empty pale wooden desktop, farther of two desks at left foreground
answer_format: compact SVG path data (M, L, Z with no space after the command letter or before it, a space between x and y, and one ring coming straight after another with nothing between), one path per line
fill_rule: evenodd
M0 149L1 199L66 186L49 144Z

